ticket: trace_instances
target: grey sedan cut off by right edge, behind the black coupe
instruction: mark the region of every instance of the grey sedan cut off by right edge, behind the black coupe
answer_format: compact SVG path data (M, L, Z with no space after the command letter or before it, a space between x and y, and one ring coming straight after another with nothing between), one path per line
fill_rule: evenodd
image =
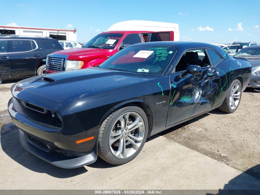
M234 57L245 58L252 66L251 80L247 87L260 88L260 45L243 48Z

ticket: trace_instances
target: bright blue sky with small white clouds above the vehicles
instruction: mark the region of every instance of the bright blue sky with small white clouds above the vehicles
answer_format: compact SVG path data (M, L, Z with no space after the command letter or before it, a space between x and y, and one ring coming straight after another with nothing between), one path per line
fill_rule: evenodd
M180 40L206 43L260 43L260 1L3 1L0 25L77 28L79 42L116 22L178 23ZM90 29L92 28L92 30Z

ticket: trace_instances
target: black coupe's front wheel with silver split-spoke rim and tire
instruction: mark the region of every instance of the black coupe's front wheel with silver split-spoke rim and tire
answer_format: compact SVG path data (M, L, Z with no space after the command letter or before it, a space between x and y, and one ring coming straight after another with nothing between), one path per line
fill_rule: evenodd
M141 108L119 108L106 118L100 128L98 156L112 165L128 163L142 150L147 134L148 121Z

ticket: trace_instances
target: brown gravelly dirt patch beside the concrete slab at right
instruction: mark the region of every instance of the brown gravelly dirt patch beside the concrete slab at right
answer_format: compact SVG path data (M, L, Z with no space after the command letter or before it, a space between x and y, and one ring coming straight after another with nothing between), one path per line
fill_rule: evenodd
M246 89L236 112L218 109L162 132L178 142L240 171L260 162L260 90ZM260 179L260 169L248 173Z

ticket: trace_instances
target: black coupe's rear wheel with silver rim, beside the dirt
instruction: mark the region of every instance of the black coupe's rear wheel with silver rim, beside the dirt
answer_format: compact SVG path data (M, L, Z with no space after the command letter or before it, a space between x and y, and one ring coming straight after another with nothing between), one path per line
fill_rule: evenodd
M237 90L236 87L238 87ZM240 104L241 95L242 95L242 86L240 81L236 79L231 83L226 93L225 100L218 109L222 112L227 112L227 113L235 112ZM234 101L232 101L232 99Z

